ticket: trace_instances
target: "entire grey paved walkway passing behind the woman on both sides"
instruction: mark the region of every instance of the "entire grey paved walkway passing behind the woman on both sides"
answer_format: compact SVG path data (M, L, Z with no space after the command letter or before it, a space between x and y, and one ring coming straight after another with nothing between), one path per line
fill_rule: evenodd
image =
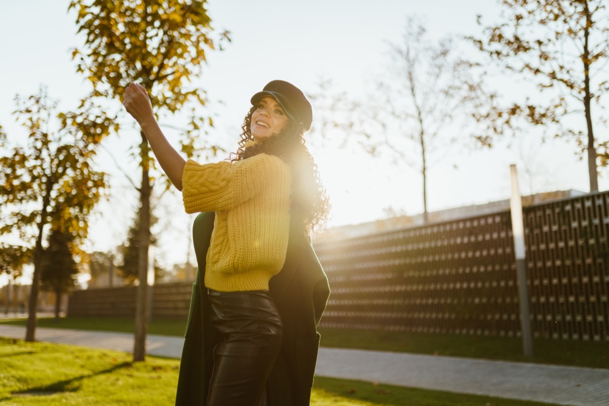
M0 337L25 327L0 324ZM133 335L37 328L38 341L133 351ZM148 335L147 354L180 358L183 338ZM571 406L609 406L609 369L320 348L315 374Z

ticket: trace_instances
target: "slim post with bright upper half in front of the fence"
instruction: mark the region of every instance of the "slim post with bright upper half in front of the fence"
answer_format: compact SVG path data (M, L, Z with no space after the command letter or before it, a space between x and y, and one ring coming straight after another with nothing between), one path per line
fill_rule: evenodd
M526 357L533 355L533 338L529 312L529 291L527 289L527 268L524 251L524 222L523 204L518 190L518 177L516 165L510 165L512 173L512 198L510 199L510 212L512 213L512 234L514 236L514 250L516 254L516 267L518 269L518 302L520 303L520 326L523 336L523 349Z

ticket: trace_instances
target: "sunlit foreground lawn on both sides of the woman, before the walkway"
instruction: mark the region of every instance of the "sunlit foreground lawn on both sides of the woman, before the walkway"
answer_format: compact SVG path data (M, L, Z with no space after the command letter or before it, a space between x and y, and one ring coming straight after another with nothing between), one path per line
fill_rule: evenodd
M173 405L178 360L0 338L0 403L22 405ZM314 406L548 406L316 377Z

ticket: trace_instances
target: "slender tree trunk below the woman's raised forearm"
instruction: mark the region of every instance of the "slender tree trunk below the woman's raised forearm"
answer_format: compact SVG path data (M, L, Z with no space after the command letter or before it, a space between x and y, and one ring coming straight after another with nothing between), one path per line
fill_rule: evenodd
M150 176L149 146L144 132L140 145L142 159L142 186L140 189L139 231L138 231L138 279L139 285L135 304L135 343L133 362L146 359L146 333L148 329L148 245L150 243Z

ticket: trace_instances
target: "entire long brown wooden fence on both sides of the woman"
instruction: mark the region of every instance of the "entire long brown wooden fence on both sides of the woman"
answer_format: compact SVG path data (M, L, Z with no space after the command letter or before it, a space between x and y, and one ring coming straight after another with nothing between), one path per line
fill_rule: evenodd
M533 335L609 341L609 193L529 206L524 226ZM332 291L323 326L520 334L509 211L315 250ZM132 315L133 289L74 292L68 313ZM155 286L153 316L186 318L190 293Z

